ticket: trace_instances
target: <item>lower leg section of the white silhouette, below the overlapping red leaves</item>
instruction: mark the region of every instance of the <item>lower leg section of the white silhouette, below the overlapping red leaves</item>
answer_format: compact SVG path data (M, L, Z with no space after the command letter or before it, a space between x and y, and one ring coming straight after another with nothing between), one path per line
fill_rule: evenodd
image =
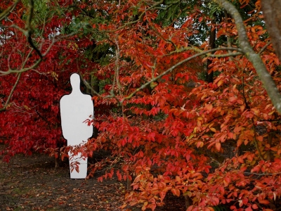
M75 156L70 153L68 155L70 156L70 179L85 179L87 177L88 158L81 158L81 153ZM77 166L79 172L75 169Z

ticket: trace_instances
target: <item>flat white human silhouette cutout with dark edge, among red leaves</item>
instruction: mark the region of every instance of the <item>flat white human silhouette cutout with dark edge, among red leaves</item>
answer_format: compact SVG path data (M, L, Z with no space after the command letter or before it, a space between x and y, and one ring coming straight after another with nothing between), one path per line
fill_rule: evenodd
M60 98L60 119L63 137L67 140L67 146L76 146L85 143L93 135L93 127L89 127L84 121L93 115L93 101L91 95L80 91L80 76L74 73L70 76L72 92ZM70 178L84 179L87 176L88 158L81 158L81 153L70 156ZM79 162L79 172L75 169L71 172L71 163Z

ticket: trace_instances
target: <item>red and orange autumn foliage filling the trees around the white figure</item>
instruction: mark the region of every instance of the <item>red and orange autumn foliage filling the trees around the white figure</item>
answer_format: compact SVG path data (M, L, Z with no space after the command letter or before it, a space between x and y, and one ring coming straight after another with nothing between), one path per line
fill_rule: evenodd
M105 83L93 96L96 113L90 123L99 134L86 144L84 155L105 149L111 156L91 166L89 177L107 167L99 181L115 174L119 180L131 180L128 205L141 203L143 210L155 210L171 191L185 196L187 210L214 210L221 204L231 210L274 210L281 196L280 115L252 63L239 53L235 22L221 18L214 26L221 49L211 55L208 73L215 76L208 84L202 76L207 60L202 52L209 42L195 46L192 40L200 34L200 23L206 21L210 28L214 17L193 2L181 5L187 9L184 18L175 15L174 22L166 24L159 15L167 2L60 1L63 15L38 24L42 34L32 38L42 54L47 51L44 60L22 72L11 102L0 113L0 137L7 144L4 158L49 152L63 141L58 101L70 91L70 72L79 72ZM240 1L240 11L248 4ZM56 4L50 1L48 6ZM18 15L11 13L11 21L2 20L2 25L25 28L20 8L28 11L18 4ZM247 36L280 88L280 63L259 12L256 1L244 21ZM93 13L98 18L91 17ZM79 15L88 25L66 36L66 25ZM50 34L56 29L53 42ZM229 47L226 37L237 51L223 48ZM26 38L16 27L1 31L1 70L22 70L40 59ZM94 44L110 46L107 63L89 58ZM5 106L19 73L3 75L0 96Z

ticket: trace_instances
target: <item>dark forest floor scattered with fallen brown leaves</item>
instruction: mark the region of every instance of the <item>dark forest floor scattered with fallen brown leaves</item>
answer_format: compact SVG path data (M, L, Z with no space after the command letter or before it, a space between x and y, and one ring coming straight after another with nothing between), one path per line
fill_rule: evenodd
M9 163L0 156L0 210L120 210L125 182L115 177L98 182L103 172L91 179L70 179L67 162L55 169L55 159L44 154L16 155ZM168 195L164 203L155 211L185 210L183 198Z

